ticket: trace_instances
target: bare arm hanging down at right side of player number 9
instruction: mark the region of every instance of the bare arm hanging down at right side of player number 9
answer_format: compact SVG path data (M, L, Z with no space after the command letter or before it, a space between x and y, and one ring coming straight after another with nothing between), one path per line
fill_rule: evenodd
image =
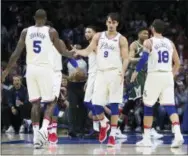
M122 76L124 78L125 72L129 64L129 52L128 52L128 41L123 36L120 37L120 50L121 50L121 57L123 59Z

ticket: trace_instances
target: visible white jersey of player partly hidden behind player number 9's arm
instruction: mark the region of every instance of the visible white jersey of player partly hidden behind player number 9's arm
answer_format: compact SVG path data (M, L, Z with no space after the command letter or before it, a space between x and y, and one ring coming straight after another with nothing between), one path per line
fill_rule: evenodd
M95 73L97 71L97 58L95 52L91 52L89 54L88 64L89 64L88 73Z

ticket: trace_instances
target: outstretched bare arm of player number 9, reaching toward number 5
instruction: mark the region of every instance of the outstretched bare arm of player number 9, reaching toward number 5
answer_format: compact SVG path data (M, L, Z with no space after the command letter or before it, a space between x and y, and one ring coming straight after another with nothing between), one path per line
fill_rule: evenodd
M100 37L100 33L97 33L93 36L89 46L82 50L77 50L73 48L71 51L75 51L77 55L87 57L91 52L96 52L98 40Z

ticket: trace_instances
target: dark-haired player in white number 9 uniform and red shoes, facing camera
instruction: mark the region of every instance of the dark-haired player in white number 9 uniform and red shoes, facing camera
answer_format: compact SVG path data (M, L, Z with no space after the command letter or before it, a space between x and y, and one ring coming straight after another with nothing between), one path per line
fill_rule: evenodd
M111 105L111 133L108 146L115 145L115 134L118 122L118 104L122 103L123 80L128 66L127 39L117 32L119 16L110 13L107 16L107 31L97 33L89 46L83 50L74 49L78 55L88 56L95 51L97 55L97 75L94 85L92 103L100 121L99 141L104 142L110 125L104 119L104 105ZM122 63L123 60L123 63Z

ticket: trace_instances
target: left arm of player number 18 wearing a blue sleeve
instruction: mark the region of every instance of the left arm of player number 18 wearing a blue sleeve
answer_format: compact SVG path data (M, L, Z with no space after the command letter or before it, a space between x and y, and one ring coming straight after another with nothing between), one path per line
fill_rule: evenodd
M138 75L138 72L144 68L144 65L148 61L149 53L151 52L151 47L152 47L151 40L150 39L145 40L143 46L144 46L143 54L142 54L142 57L140 58L139 62L136 65L136 71L134 71L134 73L131 76L131 82L135 81L135 79Z

